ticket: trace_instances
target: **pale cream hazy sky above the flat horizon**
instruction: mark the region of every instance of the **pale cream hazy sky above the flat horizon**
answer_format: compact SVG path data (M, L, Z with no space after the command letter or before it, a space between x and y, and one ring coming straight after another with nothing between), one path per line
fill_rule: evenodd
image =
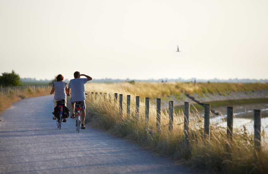
M0 0L0 73L268 78L267 9L267 0Z

